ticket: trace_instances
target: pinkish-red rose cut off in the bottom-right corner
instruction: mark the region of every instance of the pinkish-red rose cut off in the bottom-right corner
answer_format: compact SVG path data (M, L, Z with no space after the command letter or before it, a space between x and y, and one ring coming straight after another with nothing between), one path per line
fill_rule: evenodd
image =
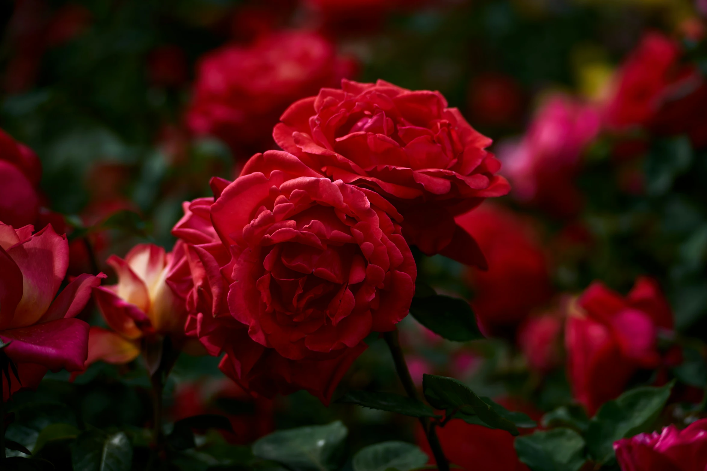
M622 471L704 471L707 467L707 419L684 430L662 431L614 442Z

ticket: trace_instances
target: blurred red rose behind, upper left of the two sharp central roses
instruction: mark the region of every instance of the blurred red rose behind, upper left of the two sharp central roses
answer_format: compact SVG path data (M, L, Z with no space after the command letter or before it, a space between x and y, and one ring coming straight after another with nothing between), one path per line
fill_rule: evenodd
M334 45L312 32L278 32L248 47L221 47L199 63L187 124L234 150L267 145L284 109L336 83L340 68Z

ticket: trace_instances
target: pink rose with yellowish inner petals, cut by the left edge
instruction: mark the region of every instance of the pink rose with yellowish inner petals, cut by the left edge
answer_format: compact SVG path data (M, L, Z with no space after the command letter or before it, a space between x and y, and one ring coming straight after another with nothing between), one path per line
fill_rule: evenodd
M79 371L88 352L88 324L74 318L90 299L98 276L80 275L57 296L69 266L69 244L51 225L32 234L0 222L0 339L16 366L3 381L3 398L36 388L47 370Z

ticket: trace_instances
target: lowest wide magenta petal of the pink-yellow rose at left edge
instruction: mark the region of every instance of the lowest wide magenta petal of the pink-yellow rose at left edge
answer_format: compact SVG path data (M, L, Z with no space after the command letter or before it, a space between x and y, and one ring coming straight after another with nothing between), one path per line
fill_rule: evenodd
M52 371L83 370L88 355L88 324L79 319L4 330L0 338L11 341L4 351L14 362L40 364Z

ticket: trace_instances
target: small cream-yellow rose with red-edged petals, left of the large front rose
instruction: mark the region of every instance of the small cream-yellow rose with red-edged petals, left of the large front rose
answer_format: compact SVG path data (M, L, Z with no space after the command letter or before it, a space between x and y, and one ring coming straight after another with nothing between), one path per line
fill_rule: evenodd
M144 338L169 336L177 347L182 345L185 301L167 282L182 261L181 245L165 253L154 244L139 244L124 259L108 258L118 283L94 288L93 297L110 329L90 328L87 365L98 360L131 362L140 354Z

